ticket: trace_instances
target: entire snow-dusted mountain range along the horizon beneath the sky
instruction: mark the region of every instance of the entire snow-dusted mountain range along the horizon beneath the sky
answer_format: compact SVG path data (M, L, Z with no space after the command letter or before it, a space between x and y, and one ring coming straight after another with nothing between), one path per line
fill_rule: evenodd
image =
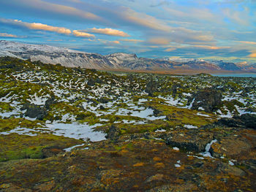
M0 40L0 57L11 56L46 64L89 69L120 70L204 70L204 71L241 71L256 72L256 64L234 64L225 61L172 61L168 58L138 58L136 54L113 53L101 55L70 50L65 47L49 45L30 45L20 42Z

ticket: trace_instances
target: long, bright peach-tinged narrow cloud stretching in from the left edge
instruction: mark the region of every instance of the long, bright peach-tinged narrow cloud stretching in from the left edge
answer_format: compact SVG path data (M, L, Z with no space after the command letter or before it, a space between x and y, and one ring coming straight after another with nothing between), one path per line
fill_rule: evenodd
M34 29L34 30L52 31L52 32L56 32L59 34L71 34L71 31L68 28L48 26L48 25L42 24L42 23L26 23L21 20L12 20L12 19L4 19L4 18L0 18L0 22L12 24L15 26L23 26L23 27L26 27L29 29Z

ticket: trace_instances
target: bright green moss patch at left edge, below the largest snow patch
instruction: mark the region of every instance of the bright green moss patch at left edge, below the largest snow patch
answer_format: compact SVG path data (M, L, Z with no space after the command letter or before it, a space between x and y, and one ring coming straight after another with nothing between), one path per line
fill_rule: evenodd
M83 143L77 139L60 137L53 134L27 136L19 134L1 135L0 161L22 158L44 158L43 149L52 148L53 153L61 149ZM55 152L54 152L55 151Z

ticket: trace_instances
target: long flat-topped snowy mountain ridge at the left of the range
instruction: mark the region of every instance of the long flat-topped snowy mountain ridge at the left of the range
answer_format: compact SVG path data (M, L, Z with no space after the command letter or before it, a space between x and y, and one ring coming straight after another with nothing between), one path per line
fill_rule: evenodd
M71 67L80 66L94 69L109 69L113 67L113 64L110 64L108 59L102 55L49 45L29 45L19 42L0 41L0 55Z

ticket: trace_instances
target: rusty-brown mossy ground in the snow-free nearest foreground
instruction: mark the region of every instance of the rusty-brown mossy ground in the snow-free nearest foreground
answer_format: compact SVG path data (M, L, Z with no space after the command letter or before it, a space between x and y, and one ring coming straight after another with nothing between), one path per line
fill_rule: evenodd
M177 161L180 167L175 166ZM44 191L48 183L50 191L146 191L152 188L165 191L165 188L175 190L189 184L189 189L180 190L234 191L239 188L250 191L255 186L254 176L237 175L239 170L247 172L244 168L237 169L219 160L187 156L161 141L138 139L118 146L101 142L93 149L43 160L1 163L0 187ZM11 186L3 185L10 180Z

